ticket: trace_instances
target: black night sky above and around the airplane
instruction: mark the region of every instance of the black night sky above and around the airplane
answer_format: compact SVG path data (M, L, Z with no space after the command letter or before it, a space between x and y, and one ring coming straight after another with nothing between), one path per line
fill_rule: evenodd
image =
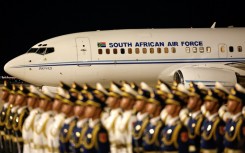
M1 0L0 75L4 64L58 35L110 29L245 27L238 0Z

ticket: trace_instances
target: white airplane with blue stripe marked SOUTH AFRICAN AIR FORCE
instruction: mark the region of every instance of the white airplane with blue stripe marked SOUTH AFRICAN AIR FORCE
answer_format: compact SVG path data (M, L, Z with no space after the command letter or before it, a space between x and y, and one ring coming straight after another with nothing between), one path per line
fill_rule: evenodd
M10 60L4 70L39 86L158 79L226 87L245 79L245 28L125 29L54 37Z

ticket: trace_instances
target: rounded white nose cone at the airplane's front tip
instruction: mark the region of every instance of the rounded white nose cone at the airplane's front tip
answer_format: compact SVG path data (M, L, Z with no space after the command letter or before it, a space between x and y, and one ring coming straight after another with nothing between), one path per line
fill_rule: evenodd
M4 71L9 75L16 77L18 79L22 79L24 77L24 70L20 68L20 63L16 58L8 61L4 65Z

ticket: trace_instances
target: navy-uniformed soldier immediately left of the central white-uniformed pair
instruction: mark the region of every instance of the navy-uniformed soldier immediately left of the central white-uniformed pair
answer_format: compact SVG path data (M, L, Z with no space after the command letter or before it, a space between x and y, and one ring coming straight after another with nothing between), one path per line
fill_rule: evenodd
M110 143L107 130L100 122L100 115L105 103L97 98L94 93L88 93L85 117L89 119L88 126L82 129L82 146L84 153L109 153Z

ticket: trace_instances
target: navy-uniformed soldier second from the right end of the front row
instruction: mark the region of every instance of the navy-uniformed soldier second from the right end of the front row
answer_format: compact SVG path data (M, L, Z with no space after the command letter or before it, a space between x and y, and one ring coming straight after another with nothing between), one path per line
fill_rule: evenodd
M223 147L223 136L225 123L218 115L218 110L222 105L222 99L213 89L208 91L204 98L206 110L209 115L202 124L201 152L221 153Z

